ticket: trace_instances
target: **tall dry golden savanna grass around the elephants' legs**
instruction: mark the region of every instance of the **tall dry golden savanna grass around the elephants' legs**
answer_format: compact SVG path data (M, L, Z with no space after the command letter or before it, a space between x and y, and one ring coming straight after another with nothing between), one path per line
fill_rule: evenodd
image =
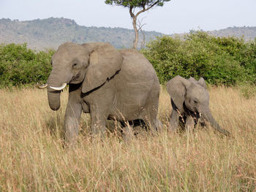
M167 131L170 97L162 90L159 136L142 131L129 144L113 129L91 142L82 115L79 142L63 147L67 91L61 109L46 91L0 90L0 191L256 191L256 97L236 88L209 88L210 108L232 138L212 128Z

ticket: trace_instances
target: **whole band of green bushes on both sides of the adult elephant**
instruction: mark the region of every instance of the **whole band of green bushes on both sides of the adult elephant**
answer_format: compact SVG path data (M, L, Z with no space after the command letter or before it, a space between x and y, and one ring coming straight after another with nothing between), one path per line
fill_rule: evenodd
M214 85L256 83L256 39L211 37L194 31L185 37L158 37L140 50L162 84L176 75L204 77ZM0 87L46 82L55 51L37 52L23 45L0 45Z

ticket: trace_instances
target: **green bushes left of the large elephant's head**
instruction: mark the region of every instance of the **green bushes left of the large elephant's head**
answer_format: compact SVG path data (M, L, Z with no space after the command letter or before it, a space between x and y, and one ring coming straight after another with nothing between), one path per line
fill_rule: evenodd
M46 82L53 52L35 52L26 44L0 45L0 87Z

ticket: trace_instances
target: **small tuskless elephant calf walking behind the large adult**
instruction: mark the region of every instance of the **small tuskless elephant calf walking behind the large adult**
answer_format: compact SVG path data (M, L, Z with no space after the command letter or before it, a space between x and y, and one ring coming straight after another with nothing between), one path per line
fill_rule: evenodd
M197 81L193 77L186 80L178 75L167 82L166 87L173 107L170 115L171 130L176 130L178 123L185 124L185 128L194 127L200 119L203 125L207 121L215 130L230 136L230 133L221 128L211 115L209 94L203 77Z

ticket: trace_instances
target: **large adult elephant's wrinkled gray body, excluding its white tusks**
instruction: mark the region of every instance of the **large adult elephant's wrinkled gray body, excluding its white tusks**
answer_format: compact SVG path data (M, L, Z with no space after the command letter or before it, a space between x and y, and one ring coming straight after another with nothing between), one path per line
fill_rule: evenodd
M93 136L104 136L107 119L124 122L144 120L154 131L157 119L159 80L153 66L136 50L116 50L108 43L72 42L60 45L52 57L48 77L48 101L59 110L61 91L69 85L65 113L65 139L75 142L81 112L90 113ZM125 128L124 128L125 130Z

